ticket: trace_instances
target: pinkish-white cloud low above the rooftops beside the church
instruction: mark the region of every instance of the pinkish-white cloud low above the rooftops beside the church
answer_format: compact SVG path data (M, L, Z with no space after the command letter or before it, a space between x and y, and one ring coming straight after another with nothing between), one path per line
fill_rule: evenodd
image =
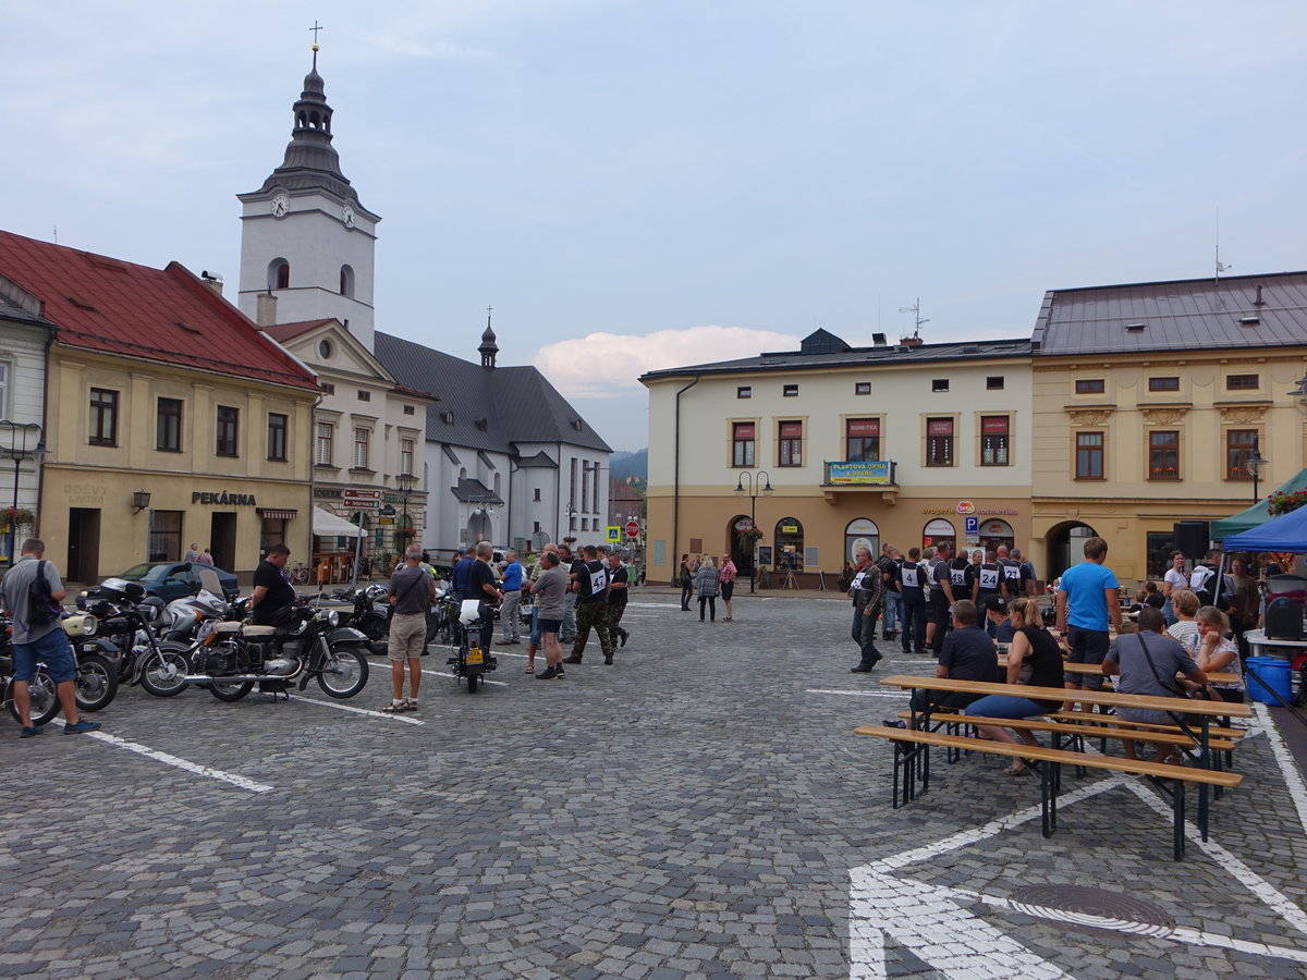
M712 361L755 357L763 350L792 350L799 337L748 327L687 327L642 337L589 333L546 344L535 365L566 397L616 399L642 391L646 371Z

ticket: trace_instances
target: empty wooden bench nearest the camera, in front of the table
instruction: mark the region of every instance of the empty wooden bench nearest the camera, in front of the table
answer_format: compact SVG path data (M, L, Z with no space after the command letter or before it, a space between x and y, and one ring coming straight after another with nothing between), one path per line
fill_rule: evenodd
M1200 788L1221 787L1233 789L1243 781L1243 776L1236 772L1219 772L1216 770L1191 768L1188 766L1167 766L1157 762L1138 762L1136 759L1119 759L1107 755L1091 755L1086 753L1065 751L1061 749L1044 749L1031 745L1009 745L1008 742L991 742L984 738L965 738L962 736L942 734L940 732L924 732L911 728L889 728L887 725L860 725L853 729L855 734L885 738L895 745L894 751L894 808L902 804L899 787L902 787L902 800L908 802L918 796L916 791L916 751L929 746L945 749L962 749L967 751L987 753L991 755L1006 755L1022 759L1027 766L1039 774L1039 806L1042 817L1042 830L1046 838L1052 836L1057 830L1057 793L1061 789L1063 764L1082 766L1087 768L1110 770L1114 772L1127 772L1138 776L1148 776L1154 780L1161 789L1171 798L1171 849L1176 861L1184 857L1184 789L1185 784L1196 783ZM916 750L903 750L903 746L915 745ZM923 787L924 792L924 787ZM1204 839L1206 834L1204 832Z

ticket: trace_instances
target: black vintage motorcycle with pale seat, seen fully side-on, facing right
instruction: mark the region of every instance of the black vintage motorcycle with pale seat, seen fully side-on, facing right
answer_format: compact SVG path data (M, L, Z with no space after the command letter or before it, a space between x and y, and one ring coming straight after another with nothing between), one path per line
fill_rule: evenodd
M308 605L284 610L278 626L223 622L213 627L195 652L195 669L183 679L208 685L218 700L235 702L254 690L286 694L308 681L332 698L353 698L367 683L367 638L340 626L332 609Z

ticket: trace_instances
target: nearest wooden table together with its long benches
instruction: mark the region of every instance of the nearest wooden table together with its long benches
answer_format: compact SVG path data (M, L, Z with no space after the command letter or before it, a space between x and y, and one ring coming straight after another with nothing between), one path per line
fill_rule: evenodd
M1086 664L1085 666L1100 670L1098 665ZM1209 674L1209 678L1223 679L1216 674ZM1219 798L1225 789L1234 789L1243 781L1243 776L1229 771L1229 766L1234 759L1234 747L1246 729L1233 727L1230 720L1252 717L1252 710L1247 704L1119 694L1111 690L1012 686L906 674L886 677L881 679L881 683L904 691L924 689L979 696L1019 693L1019 696L1033 700L1080 702L1082 706L1098 707L1099 712L1115 708L1144 708L1167 712L1175 723L1163 725L1127 721L1114 715L1094 711L1056 711L1030 719L976 717L958 713L953 708L940 707L927 698L924 699L925 707L903 712L902 717L910 720L908 728L860 725L853 729L856 734L885 738L894 745L895 809L915 800L929 787L932 746L945 749L950 763L957 762L963 753L976 751L1021 759L1029 768L1038 772L1043 835L1046 838L1057 828L1057 796L1061 791L1063 766L1073 766L1077 775L1081 776L1090 768L1138 775L1150 779L1171 800L1172 851L1175 860L1179 861L1184 856L1185 787L1195 784L1199 788L1197 825L1202 839L1206 840L1209 796L1214 791L1216 797ZM1217 721L1222 724L1214 724ZM1052 736L1052 747L1013 745L963 734L963 729L978 725L1048 732ZM1099 743L1098 751L1093 751L1090 747L1095 741ZM1144 762L1107 755L1108 741L1158 742L1175 746L1192 764Z

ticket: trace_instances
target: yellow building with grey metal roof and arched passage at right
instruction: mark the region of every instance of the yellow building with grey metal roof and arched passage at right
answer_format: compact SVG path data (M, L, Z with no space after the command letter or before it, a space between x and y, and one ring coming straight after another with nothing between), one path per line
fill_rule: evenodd
M1159 576L1176 521L1230 516L1304 465L1307 273L1050 291L1033 342L1040 572L1097 533L1117 578Z

